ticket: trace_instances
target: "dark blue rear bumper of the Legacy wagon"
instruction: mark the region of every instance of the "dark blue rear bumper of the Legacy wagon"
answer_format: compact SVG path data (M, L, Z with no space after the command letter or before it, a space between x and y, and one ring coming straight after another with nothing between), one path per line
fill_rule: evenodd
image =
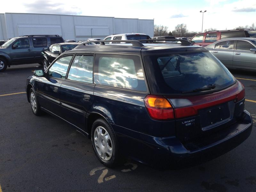
M181 143L176 137L159 138L116 128L114 129L122 149L121 153L124 152L124 155L156 167L180 168L201 164L240 145L251 134L252 117L244 110L243 118L236 124L208 138L190 143Z

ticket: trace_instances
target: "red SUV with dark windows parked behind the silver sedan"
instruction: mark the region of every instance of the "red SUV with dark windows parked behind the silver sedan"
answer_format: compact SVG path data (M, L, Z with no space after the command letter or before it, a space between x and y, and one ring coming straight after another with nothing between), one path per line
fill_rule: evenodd
M220 30L220 31L207 31L198 33L190 42L200 46L207 46L220 39L236 38L236 37L252 37L256 38L256 31L251 29L235 29L235 30Z

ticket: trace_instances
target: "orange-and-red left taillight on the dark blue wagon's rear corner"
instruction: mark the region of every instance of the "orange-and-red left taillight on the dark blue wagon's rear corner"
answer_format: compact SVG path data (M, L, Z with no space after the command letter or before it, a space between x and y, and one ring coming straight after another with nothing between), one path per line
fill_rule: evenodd
M144 99L144 103L151 118L156 120L174 119L172 105L165 97L147 95Z

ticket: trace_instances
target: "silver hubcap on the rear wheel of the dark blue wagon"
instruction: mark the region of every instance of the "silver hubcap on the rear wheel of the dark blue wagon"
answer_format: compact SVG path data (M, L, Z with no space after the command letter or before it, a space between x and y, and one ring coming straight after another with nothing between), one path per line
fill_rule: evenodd
M94 131L94 146L102 159L105 161L111 159L113 154L112 141L107 130L102 126L98 126Z

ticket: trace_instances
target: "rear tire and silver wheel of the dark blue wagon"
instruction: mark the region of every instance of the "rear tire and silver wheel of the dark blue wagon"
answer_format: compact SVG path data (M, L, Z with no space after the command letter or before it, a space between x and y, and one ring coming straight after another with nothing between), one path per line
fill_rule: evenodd
M92 146L95 155L106 167L113 168L118 164L118 145L116 135L108 122L97 119L92 124Z

